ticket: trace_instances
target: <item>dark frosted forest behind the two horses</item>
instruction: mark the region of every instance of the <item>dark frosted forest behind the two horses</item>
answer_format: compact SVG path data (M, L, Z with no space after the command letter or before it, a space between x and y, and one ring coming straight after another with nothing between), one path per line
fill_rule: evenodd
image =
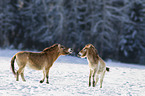
M103 59L145 65L145 0L0 0L0 48L75 54L92 43Z

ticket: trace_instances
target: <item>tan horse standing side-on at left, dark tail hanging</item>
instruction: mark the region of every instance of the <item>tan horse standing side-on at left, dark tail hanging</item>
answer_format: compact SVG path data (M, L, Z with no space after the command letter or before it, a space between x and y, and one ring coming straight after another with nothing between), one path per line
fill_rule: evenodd
M60 44L54 44L53 46L44 49L42 52L37 53L26 51L18 52L13 56L11 60L12 72L16 76L16 81L19 80L19 74L21 74L22 80L26 81L24 79L24 68L26 66L29 66L30 68L35 70L43 70L43 79L40 81L40 83L43 83L46 77L47 79L46 83L49 84L48 81L49 69L51 68L55 60L60 55L68 55L71 53L72 53L71 48L66 48ZM17 72L15 72L14 68L15 59L19 67Z

